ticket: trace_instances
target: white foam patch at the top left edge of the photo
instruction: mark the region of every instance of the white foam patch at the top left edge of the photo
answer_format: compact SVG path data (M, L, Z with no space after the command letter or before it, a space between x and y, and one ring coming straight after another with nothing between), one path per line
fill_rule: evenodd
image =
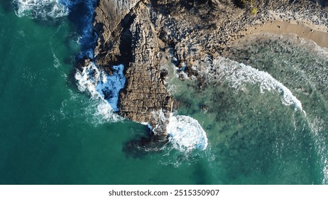
M67 16L69 9L60 0L13 0L17 6L17 16L28 16L31 18L59 18Z

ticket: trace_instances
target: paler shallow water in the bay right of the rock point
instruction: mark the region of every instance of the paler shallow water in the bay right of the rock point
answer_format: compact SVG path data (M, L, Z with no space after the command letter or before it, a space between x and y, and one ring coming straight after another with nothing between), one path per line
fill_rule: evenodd
M207 133L214 178L327 183L328 50L275 35L256 35L232 49L230 60L209 66L204 89L174 75L169 80L178 114L197 119Z

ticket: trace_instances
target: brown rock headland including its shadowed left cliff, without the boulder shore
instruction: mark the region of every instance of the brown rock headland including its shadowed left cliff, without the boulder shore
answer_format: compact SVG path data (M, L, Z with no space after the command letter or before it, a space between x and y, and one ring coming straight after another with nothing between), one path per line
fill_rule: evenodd
M173 99L164 85L166 72L159 68L163 42L151 21L149 3L100 1L94 23L99 35L95 61L108 70L115 63L125 65L126 86L120 92L119 114L148 123L155 134L165 137Z

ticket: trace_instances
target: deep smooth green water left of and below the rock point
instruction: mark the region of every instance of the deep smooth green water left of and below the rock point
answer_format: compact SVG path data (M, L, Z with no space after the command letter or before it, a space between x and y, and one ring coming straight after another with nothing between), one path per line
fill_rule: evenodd
M124 150L148 127L105 122L97 102L77 89L80 49L68 18L55 24L18 18L11 6L0 5L1 184L199 182L202 162L177 168L168 151L133 156Z

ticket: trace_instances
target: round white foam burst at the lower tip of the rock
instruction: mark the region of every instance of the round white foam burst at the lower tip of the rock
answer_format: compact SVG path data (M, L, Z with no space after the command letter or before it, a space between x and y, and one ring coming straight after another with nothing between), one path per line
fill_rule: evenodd
M179 115L171 116L167 127L170 143L179 151L207 148L207 136L196 119Z

